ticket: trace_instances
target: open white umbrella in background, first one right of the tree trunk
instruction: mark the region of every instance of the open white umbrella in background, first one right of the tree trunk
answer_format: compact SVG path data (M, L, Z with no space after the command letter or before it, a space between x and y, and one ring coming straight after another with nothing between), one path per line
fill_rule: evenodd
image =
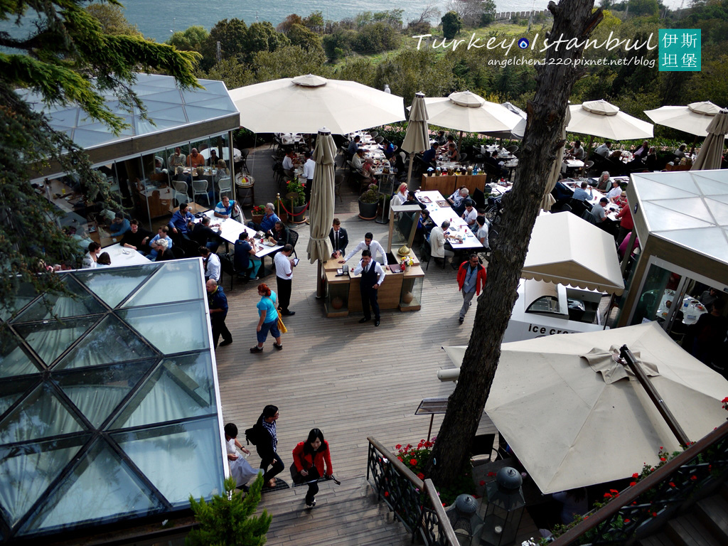
M610 141L631 141L636 138L652 138L652 123L630 116L606 100L587 100L569 106L571 121L569 132L580 132L606 138Z

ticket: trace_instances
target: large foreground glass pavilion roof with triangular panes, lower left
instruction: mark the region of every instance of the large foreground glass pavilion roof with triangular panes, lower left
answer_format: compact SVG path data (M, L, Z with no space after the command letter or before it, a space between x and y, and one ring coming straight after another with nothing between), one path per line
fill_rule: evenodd
M3 541L180 510L228 471L201 261L62 275L0 314Z

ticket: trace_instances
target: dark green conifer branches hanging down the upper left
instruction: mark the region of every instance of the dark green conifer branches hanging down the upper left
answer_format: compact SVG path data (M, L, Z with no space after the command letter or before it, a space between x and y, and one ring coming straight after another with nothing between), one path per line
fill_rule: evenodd
M24 93L50 106L80 106L91 119L118 132L122 117L107 108L103 95L114 92L124 106L143 103L131 91L138 71L171 74L182 87L197 86L194 53L178 52L141 36L103 31L82 0L0 2L0 20L16 20L17 31L0 33L0 315L19 282L36 290L57 290L45 264L74 264L78 246L55 222L59 215L30 178L41 165L55 162L78 175L88 199L111 202L108 183L68 137L52 130ZM109 4L118 6L116 1ZM25 23L34 10L36 24ZM36 99L37 100L37 99Z

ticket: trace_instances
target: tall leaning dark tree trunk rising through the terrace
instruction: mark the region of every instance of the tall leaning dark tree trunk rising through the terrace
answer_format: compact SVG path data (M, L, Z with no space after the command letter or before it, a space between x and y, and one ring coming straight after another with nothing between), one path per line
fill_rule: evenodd
M460 368L455 391L440 427L438 441L427 468L438 485L452 483L464 467L470 442L478 430L500 357L500 345L517 298L518 281L526 260L531 230L539 213L556 153L564 145L566 108L574 82L582 76L574 60L582 58L583 44L566 49L569 39L585 41L602 19L593 0L551 1L554 15L550 38L564 40L545 52L547 63L536 67L537 87L527 106L528 121L523 137L518 181L504 197L498 243L488 263L486 288L478 298L475 325ZM540 48L542 44L537 44ZM561 63L561 64L557 64ZM568 63L568 64L566 64Z

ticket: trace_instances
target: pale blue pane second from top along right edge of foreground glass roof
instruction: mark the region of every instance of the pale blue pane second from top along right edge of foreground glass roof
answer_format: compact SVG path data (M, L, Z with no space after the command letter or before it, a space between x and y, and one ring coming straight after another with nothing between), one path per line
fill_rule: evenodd
M202 301L138 307L118 313L122 320L126 320L165 355L207 349L210 346Z

